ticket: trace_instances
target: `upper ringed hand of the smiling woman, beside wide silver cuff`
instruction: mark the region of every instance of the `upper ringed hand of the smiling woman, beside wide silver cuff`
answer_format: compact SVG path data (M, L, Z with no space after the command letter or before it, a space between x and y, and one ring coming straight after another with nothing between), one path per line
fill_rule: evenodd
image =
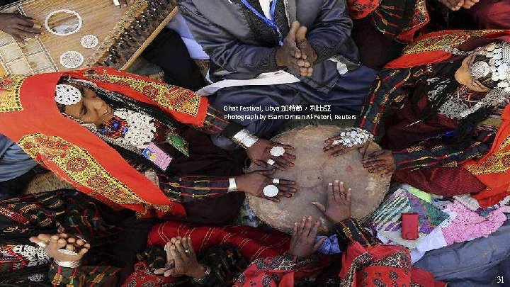
M271 152L274 147L283 147L283 154L276 154ZM261 167L268 167L271 165L280 170L285 170L285 167L294 167L293 160L295 159L295 155L289 154L289 150L293 150L294 147L290 145L282 145L278 142L271 142L271 140L259 139L254 145L249 147L246 150L248 157L253 160L256 165ZM276 155L273 155L276 154Z

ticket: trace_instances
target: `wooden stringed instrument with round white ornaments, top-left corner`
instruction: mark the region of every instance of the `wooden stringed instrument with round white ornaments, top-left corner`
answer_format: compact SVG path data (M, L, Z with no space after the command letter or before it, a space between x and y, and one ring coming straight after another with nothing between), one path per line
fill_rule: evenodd
M79 52L84 57L83 63L72 69L97 65L126 69L175 15L176 0L160 2L168 5L152 7L147 1L137 0L121 9L105 0L26 0L6 6L0 12L34 18L42 26L43 34L27 39L28 44L23 45L0 31L0 76L67 71L60 63L60 56L67 51ZM82 25L76 33L55 35L45 28L47 16L62 9L79 14ZM141 19L150 24L142 27ZM83 47L81 38L85 35L95 35L98 45Z

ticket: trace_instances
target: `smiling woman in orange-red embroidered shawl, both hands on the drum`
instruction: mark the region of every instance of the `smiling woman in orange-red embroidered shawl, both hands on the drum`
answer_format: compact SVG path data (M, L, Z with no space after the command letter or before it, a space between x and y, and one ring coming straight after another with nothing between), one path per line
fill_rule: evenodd
M292 147L250 135L205 97L104 67L4 77L0 121L1 134L79 191L146 215L155 210L184 220L188 213L198 223L229 222L243 199L235 191L264 196L273 184L270 172L241 175L203 133L242 135L238 142L258 163L285 169L294 158L285 152ZM275 146L283 150L279 157L270 154ZM274 185L273 201L295 191L290 181Z

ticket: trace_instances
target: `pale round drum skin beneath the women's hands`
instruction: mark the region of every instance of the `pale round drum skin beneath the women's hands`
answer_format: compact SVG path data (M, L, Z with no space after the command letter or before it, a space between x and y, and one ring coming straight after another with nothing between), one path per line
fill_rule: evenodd
M378 208L390 186L390 177L370 174L361 164L362 155L353 150L339 157L329 157L322 148L324 140L339 135L342 128L334 125L309 125L295 128L273 137L274 142L281 142L295 147L295 167L287 171L277 170L271 177L289 179L296 182L297 192L292 198L281 198L279 203L265 198L247 195L249 206L263 222L286 233L291 233L293 224L303 216L311 215L321 221L319 233L329 235L334 232L334 225L311 204L318 201L327 206L327 186L335 179L344 181L346 188L352 188L352 216L364 218ZM370 142L367 152L380 150L375 142ZM251 164L249 171L263 168ZM344 214L347 218L348 214Z

